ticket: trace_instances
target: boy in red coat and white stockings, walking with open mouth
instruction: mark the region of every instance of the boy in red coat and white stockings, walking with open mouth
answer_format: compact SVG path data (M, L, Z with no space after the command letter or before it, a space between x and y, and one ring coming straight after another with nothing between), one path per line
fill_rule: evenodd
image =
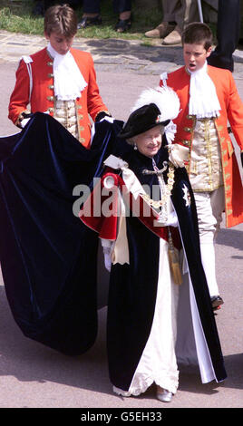
M228 228L243 221L242 183L228 134L229 121L242 151L243 103L232 73L207 64L212 49L207 24L189 24L182 45L185 66L161 74L160 85L170 86L180 98L174 143L189 149L187 169L198 210L202 262L212 306L217 308L223 300L215 274L214 240L222 212Z

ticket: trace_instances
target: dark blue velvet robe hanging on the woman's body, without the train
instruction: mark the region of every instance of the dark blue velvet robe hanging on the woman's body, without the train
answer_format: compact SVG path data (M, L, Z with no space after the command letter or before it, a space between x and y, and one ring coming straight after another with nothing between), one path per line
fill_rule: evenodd
M159 186L156 175L145 175L143 169L153 170L152 160L139 151L121 155L142 185ZM162 148L154 157L162 169L168 160L168 150ZM166 169L163 173L167 181ZM190 192L190 204L183 188ZM146 188L146 187L144 187ZM151 191L152 194L152 191ZM171 201L179 218L180 236L190 270L200 322L209 348L215 377L220 382L226 377L219 335L211 307L209 290L200 260L199 228L195 200L186 169L175 169ZM130 264L112 265L108 303L108 359L112 383L128 391L141 354L151 333L151 324L159 280L160 237L146 228L132 214L126 217ZM177 228L170 227L175 234ZM174 232L173 232L174 230ZM183 285L182 285L183 286ZM187 306L190 309L190 305Z

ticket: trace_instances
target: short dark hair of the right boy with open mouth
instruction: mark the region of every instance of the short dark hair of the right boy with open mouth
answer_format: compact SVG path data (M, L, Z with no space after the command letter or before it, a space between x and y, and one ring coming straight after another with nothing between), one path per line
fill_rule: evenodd
M204 49L208 51L213 43L213 34L209 25L200 22L188 24L182 33L182 45L184 44L203 44Z

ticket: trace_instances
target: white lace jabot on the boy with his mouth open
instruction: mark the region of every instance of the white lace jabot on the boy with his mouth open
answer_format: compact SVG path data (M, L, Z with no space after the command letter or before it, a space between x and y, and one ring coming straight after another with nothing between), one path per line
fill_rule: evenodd
M215 85L207 72L207 62L198 71L190 73L190 115L197 118L218 117L219 99Z

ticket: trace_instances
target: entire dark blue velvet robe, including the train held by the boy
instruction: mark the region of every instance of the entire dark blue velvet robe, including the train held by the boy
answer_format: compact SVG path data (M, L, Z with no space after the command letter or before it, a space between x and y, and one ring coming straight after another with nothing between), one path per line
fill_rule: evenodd
M129 160L141 179L144 159L134 157L131 147L117 139L121 125L121 121L97 123L92 149L86 150L52 117L36 113L23 131L0 141L0 261L7 299L25 336L67 354L87 351L97 333L98 235L73 215L73 187L83 183L92 188L93 177L102 175L103 160L111 153ZM157 160L160 167L162 159ZM188 211L181 203L183 183L190 189L185 169L177 169L171 199L220 381L226 373L200 264L194 198L190 189ZM108 314L112 382L123 389L129 386L150 333L158 277L158 270L148 267L148 258L143 262L141 245L153 247L153 265L159 238L141 229L137 218L129 221L128 235L134 268L122 267L121 272L121 266L113 266ZM122 281L121 290L117 280ZM129 362L121 377L123 356Z

